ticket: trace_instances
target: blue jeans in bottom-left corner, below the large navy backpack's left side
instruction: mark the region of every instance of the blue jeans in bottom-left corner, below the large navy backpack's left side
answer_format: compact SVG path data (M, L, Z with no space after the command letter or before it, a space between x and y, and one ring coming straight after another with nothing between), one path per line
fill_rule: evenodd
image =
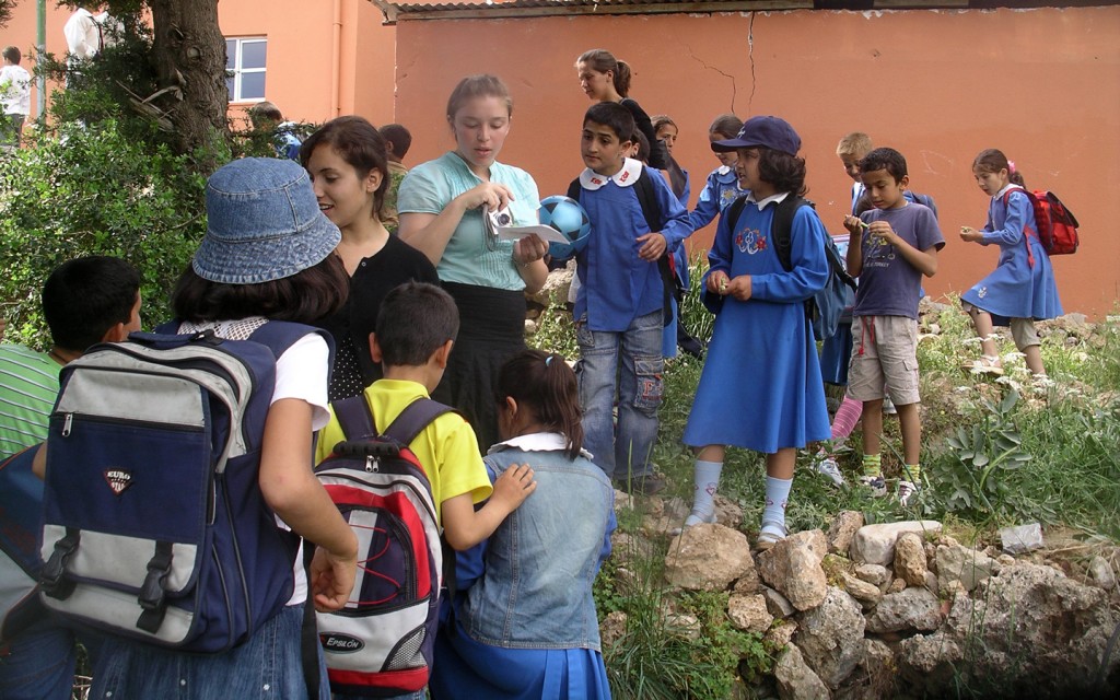
M28 627L0 648L0 698L69 700L76 657L71 629L53 619Z

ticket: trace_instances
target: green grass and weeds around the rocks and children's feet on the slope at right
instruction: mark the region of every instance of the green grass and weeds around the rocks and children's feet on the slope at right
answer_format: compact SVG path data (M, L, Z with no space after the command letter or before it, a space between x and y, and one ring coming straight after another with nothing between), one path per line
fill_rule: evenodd
M692 270L693 289L682 306L684 323L700 337L710 337L712 316L699 304L702 264ZM864 514L869 523L931 517L968 532L970 540L992 542L996 530L1007 524L1039 521L1065 525L1092 538L1120 539L1120 325L1116 318L1099 324L1093 333L1079 328L1044 336L1043 358L1055 385L1044 391L1032 386L1021 357L1004 337L1007 375L999 381L961 370L979 355L968 316L956 299L923 317L924 337L918 345L922 405L922 464L927 482L911 505L894 498L872 498L853 485L859 473L859 429L840 454L848 484L836 488L813 468L814 448L797 456L794 486L786 517L792 531L827 529L839 511ZM578 355L567 316L545 323L531 340L539 347ZM570 354L569 354L570 353ZM682 355L668 361L660 437L654 461L669 478L664 497L692 498L691 450L681 444L701 361ZM1021 400L1008 400L1011 392ZM1002 407L1002 408L1001 408ZM949 439L964 428L981 426L984 449L1001 460L983 476L983 458L955 449ZM898 421L884 421L884 472L898 476L902 441ZM1024 452L1029 459L1010 459ZM968 456L962 459L962 455ZM990 461L989 461L990 464ZM972 505L962 506L954 489L964 489ZM730 448L727 452L720 495L744 511L743 529L757 532L765 489L764 456ZM959 494L955 494L959 496ZM983 496L983 498L981 498ZM987 502L988 505L984 505ZM977 505L979 504L979 505ZM637 539L651 538L648 548L616 552L596 581L599 614L627 615L623 637L605 648L612 691L616 698L729 698L740 697L744 682L769 671L774 654L758 635L730 627L727 594L681 594L663 584L663 557L669 540L642 533L641 502L626 510L619 529ZM633 540L632 540L633 542ZM641 549L641 551L636 551ZM619 560L625 563L619 563ZM698 636L681 634L669 613L688 613L699 619Z

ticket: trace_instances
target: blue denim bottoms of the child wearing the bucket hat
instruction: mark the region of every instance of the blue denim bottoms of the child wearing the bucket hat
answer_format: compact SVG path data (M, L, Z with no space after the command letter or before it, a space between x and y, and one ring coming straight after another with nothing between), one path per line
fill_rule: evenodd
M187 654L120 637L105 641L94 663L91 698L161 700L280 700L306 698L300 663L304 606L264 623L244 644L220 654ZM327 700L327 669L319 656L319 698Z

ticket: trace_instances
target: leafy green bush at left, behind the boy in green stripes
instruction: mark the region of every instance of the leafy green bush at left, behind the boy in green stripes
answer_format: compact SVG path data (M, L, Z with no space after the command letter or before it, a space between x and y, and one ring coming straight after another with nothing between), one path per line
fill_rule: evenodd
M0 301L6 339L48 343L43 283L80 255L116 255L143 276L146 325L170 317L168 298L205 232L205 179L166 146L143 144L113 119L65 124L62 138L0 159Z

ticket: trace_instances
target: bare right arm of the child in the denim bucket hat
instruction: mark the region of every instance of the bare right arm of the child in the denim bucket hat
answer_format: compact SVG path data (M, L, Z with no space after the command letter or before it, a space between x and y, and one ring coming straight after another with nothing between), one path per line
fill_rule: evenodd
M357 539L311 472L311 404L281 399L264 421L259 483L265 503L318 545L310 587L316 608L342 608L354 587Z

